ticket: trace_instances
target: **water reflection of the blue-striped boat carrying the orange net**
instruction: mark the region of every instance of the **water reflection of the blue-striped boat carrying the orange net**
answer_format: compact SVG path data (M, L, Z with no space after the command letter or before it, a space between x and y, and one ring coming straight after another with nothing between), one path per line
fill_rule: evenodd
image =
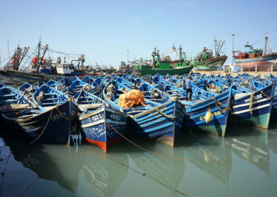
M185 162L183 161L185 148L181 147L180 143L180 140L177 140L175 148L145 141L139 142L138 144L143 144L143 148L154 153L181 160L153 155L143 150L128 153L136 166L136 170L145 173L148 178L166 186L165 188L168 189L169 193L164 194L162 190L155 191L155 195L157 196L159 194L156 194L156 192L161 192L161 196L177 196L178 193L174 189L184 192L184 188L178 188L184 178L185 172Z

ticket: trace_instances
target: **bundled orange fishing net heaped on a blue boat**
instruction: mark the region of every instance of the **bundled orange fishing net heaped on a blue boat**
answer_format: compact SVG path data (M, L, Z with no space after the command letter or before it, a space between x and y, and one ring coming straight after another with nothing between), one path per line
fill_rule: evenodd
M132 108L133 105L145 105L143 93L139 89L131 89L129 92L121 94L118 100L118 105L123 108Z

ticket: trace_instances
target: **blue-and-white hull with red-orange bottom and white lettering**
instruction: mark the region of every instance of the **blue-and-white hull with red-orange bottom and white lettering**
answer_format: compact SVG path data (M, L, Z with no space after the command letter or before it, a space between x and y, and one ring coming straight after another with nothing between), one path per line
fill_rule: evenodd
M79 120L82 136L87 142L102 148L105 152L121 138L117 132L121 135L125 135L126 132L127 114L106 106L82 114Z

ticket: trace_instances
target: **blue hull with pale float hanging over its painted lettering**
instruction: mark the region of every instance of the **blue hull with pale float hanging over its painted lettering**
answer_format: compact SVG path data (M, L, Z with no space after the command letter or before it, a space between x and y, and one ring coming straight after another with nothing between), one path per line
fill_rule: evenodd
M187 106L184 127L191 131L208 132L224 137L226 134L229 111L231 110L230 107L233 100L231 90L215 96L215 100L217 101L217 104L213 99L208 99L202 103ZM205 116L208 109L211 110L213 117L210 122L206 123Z

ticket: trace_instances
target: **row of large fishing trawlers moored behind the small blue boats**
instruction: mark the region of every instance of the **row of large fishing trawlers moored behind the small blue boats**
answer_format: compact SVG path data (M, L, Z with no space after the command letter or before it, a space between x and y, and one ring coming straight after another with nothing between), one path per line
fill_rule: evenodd
M49 48L48 44L42 45L39 39L33 52L29 47L21 49L17 46L15 53L12 56L8 55L9 57L2 61L5 61L5 64L0 69L0 83L7 85L22 85L25 82L35 83L37 81L46 83L48 80L60 80L64 76L67 78L105 76L105 74L133 74L139 77L156 74L181 76L189 74L190 71L220 71L226 69L223 65L228 57L222 50L225 44L225 41L214 38L213 49L204 47L195 58L188 58L181 45L178 49L173 45L170 55L164 55L157 47L154 47L150 60L143 60L143 58L134 59L132 62L128 60L127 63L121 62L118 69L114 69L112 66L100 68L97 63L94 67L84 66L85 58L87 58L84 54L55 51ZM235 71L235 67L241 71L277 70L277 53L269 49L267 33L264 49L254 49L253 44L247 42L245 51L233 51L233 60L235 65L229 65L229 71L231 69Z

